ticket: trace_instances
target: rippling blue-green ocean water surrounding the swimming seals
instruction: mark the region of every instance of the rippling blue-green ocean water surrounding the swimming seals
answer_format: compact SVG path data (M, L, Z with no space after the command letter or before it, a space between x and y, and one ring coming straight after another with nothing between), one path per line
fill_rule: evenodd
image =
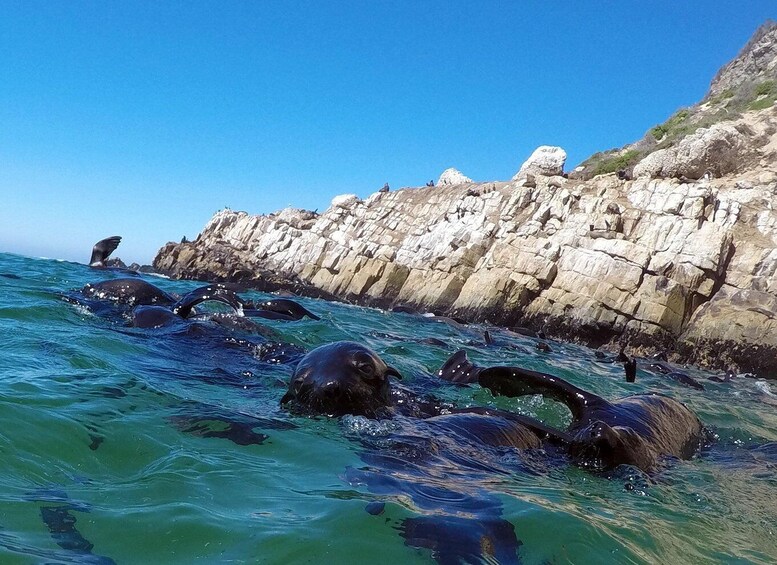
M684 369L699 391L642 365L629 384L583 347L543 353L495 329L486 347L482 326L309 299L321 320L262 322L305 349L365 343L403 386L458 406L569 419L540 397L437 382L464 348L481 365L550 372L607 398L671 395L712 434L655 474L597 475L558 454L460 449L411 418L290 414L279 400L291 369L240 341L261 336L128 327L63 299L116 276L84 265L0 255L0 274L0 563L777 559L777 381Z

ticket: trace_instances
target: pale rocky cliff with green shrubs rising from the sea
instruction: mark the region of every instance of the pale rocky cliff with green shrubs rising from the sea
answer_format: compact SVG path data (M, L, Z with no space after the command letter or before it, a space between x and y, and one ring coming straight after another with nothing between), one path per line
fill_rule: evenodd
M542 146L510 180L448 169L321 214L222 210L154 268L775 378L776 100L767 22L700 103L568 174Z

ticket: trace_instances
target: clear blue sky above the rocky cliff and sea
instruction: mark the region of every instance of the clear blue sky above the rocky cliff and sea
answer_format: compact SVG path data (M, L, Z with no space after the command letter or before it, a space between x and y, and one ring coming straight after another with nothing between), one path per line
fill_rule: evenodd
M0 251L149 263L228 206L567 169L698 101L777 2L0 1Z

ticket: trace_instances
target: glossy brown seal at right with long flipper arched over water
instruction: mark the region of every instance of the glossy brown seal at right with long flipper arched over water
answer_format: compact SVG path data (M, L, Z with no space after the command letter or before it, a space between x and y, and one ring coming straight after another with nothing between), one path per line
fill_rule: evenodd
M652 471L663 457L692 457L703 439L696 414L659 394L608 401L546 373L521 367L478 367L464 351L454 353L438 376L454 383L479 383L496 395L542 394L564 403L572 422L567 430L558 430L558 438L568 443L577 464L594 470L627 464Z

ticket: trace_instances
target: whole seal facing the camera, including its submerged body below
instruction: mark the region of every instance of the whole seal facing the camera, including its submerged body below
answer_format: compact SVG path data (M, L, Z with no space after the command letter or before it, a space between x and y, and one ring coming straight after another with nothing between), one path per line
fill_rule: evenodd
M368 347L330 343L302 358L281 403L332 416L397 416L387 435L359 434L366 466L347 468L346 480L378 496L410 498L426 515L406 519L398 529L408 545L443 548L433 553L440 563L518 562L514 526L501 517L500 500L473 477L511 472L503 467L505 450L543 447L544 424L499 410L424 402L392 386L392 376L401 378ZM344 419L346 426L354 422ZM466 480L456 481L460 476ZM380 514L383 503L373 502L367 511Z

